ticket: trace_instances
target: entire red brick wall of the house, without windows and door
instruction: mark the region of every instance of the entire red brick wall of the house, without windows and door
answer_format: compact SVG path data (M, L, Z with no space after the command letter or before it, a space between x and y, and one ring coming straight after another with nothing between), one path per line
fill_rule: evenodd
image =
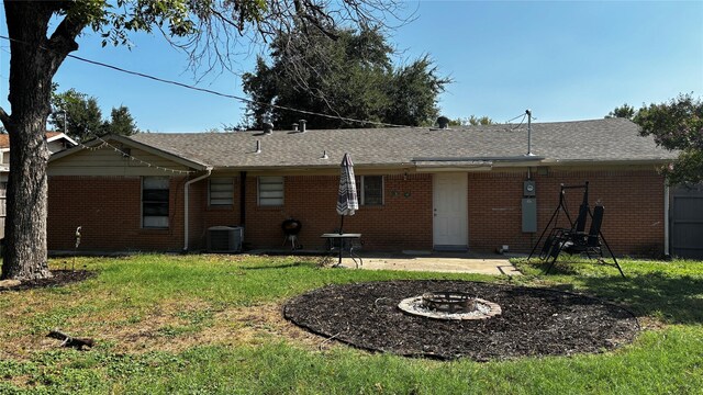
M605 206L603 234L617 255L660 253L663 248L663 180L655 171L533 172L537 191L537 233L522 233L521 199L526 172L468 173L468 245L475 251L493 251L509 245L528 252L549 222L559 201L559 184L590 182L589 202ZM182 177L171 178L170 227L141 228L140 177L51 177L48 244L53 250L74 246L76 226L82 226L81 250L180 250L183 247ZM208 206L208 182L190 187L191 250L207 245L207 229L241 225L241 184L235 178L231 207ZM284 204L260 207L257 178L246 179L245 242L252 248L281 248L283 219L302 222L299 244L317 249L323 233L339 227L336 213L338 176L288 176ZM344 219L344 229L361 233L367 250L432 249L432 174L384 177L384 205L361 206ZM574 218L582 194L567 192ZM566 226L563 214L560 225Z

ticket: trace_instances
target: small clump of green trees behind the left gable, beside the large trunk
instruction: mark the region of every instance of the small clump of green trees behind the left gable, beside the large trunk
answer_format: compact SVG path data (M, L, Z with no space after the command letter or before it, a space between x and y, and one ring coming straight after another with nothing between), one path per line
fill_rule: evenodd
M110 119L103 120L98 99L72 88L62 93L54 92L52 108L58 111L49 115L49 125L79 142L105 134L131 136L140 132L126 106L113 108Z

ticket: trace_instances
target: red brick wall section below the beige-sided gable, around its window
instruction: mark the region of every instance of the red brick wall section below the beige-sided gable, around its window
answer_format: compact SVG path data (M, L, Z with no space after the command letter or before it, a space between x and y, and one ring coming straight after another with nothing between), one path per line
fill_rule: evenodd
M183 177L169 189L169 228L142 229L140 177L49 177L47 238L51 250L177 251L183 246ZM180 193L175 193L180 191Z

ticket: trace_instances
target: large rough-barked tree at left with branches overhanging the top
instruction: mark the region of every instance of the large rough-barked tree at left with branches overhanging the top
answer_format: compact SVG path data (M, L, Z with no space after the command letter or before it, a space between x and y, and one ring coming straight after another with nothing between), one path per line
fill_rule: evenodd
M51 113L52 80L76 37L86 29L101 33L103 45L126 44L134 31L164 34L205 69L227 65L228 45L242 37L278 35L295 23L309 31L335 22L369 23L393 12L378 0L4 0L10 38L11 112L0 109L10 135L2 279L51 276L46 260L45 125ZM381 16L379 16L381 15ZM334 18L333 18L334 16ZM226 66L225 66L226 67Z

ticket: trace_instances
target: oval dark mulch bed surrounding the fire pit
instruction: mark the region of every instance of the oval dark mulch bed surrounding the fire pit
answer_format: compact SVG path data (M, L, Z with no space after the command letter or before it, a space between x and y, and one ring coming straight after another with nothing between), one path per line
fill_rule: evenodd
M398 308L403 298L444 291L498 303L502 314L480 320L439 320ZM444 360L603 352L631 342L639 330L631 312L593 297L443 280L330 285L289 301L283 315L314 334L360 349Z

